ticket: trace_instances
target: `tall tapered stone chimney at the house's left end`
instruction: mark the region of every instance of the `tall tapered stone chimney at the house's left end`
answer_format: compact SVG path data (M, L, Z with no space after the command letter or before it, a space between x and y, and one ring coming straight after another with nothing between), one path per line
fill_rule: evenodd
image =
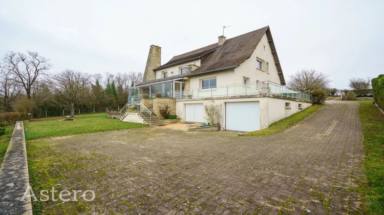
M161 47L152 45L150 53L146 60L143 82L156 79L156 73L153 69L161 66Z

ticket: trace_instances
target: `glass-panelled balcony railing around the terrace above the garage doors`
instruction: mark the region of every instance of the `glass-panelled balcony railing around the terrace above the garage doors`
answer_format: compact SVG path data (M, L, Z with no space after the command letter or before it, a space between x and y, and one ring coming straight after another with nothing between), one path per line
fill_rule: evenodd
M154 98L156 93L147 95ZM176 99L186 98L214 98L214 97L230 97L230 96L251 96L251 95L275 95L286 98L299 99L302 101L311 101L311 96L307 93L295 91L281 84L271 81L259 81L248 84L228 84L210 89L191 89L174 91L173 95L165 95ZM164 95L162 95L164 96ZM143 95L130 97L130 101L140 101Z

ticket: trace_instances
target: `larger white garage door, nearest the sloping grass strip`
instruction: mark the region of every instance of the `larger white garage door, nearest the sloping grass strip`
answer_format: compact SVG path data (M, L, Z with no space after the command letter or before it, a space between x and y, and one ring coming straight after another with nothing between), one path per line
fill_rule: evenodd
M259 102L226 102L225 129L242 132L260 130Z

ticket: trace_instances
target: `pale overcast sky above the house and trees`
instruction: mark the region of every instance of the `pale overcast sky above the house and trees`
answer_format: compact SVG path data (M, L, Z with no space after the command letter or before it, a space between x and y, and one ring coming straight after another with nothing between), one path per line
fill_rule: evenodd
M384 1L4 1L0 55L37 51L52 72L143 72L150 45L162 63L269 25L284 76L302 68L351 77L384 73Z

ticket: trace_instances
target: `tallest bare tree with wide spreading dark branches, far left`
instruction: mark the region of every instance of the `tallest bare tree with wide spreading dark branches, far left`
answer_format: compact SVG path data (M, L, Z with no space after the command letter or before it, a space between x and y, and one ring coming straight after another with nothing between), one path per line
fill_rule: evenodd
M45 74L51 68L48 59L37 52L8 52L2 68L11 71L13 79L24 88L27 98L31 99L32 88L40 75Z

